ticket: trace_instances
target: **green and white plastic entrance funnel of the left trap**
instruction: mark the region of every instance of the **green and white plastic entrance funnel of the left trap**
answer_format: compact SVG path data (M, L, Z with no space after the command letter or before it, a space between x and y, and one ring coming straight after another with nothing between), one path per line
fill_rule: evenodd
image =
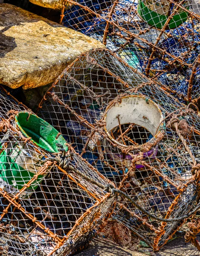
M37 148L39 147L48 153L58 153L57 143L61 144L66 151L68 150L66 140L58 134L58 131L34 114L17 113L15 126L20 129L24 137L31 137L32 143ZM0 187L6 192L16 194L43 165L45 152L41 151L42 153L39 154L33 147L21 141L17 134L12 137L6 134L0 148ZM27 198L30 196L42 179L43 176L39 175L38 179L20 197Z

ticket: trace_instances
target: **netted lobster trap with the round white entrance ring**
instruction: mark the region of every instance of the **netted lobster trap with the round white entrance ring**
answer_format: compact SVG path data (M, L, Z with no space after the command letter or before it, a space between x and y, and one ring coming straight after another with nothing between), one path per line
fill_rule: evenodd
M64 70L37 113L124 193L112 218L156 251L199 200L198 109L164 89L109 50L91 50Z

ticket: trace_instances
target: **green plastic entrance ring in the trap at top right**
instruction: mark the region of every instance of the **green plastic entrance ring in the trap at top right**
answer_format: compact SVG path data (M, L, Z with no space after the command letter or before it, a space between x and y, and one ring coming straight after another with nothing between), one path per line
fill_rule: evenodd
M185 1L182 5L189 9L189 2ZM149 25L162 29L168 16L171 15L176 8L174 4L168 0L139 0L137 11L140 17ZM174 29L184 23L188 18L188 12L178 9L177 14L173 16L168 24L168 28Z

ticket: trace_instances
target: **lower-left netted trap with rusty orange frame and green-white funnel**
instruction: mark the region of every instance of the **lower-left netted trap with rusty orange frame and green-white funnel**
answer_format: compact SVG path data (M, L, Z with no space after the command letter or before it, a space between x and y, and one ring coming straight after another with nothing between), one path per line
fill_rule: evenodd
M116 196L104 191L110 181L1 89L1 255L71 255L87 246L112 212Z

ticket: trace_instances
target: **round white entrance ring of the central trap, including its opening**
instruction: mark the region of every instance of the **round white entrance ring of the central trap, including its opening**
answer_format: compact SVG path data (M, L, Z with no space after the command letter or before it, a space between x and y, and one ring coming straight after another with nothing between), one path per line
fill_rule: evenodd
M159 133L163 116L159 107L143 96L125 96L111 102L105 115L105 131L118 145L144 145ZM130 138L130 139L128 139Z

